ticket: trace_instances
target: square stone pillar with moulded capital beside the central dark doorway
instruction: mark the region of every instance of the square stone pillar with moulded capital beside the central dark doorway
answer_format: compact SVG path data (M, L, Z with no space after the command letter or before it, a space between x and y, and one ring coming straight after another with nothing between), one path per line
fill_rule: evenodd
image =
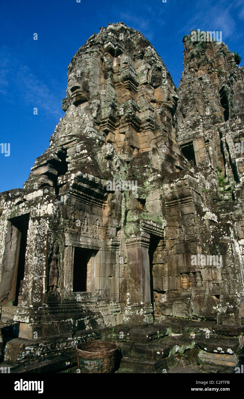
M127 303L124 323L152 324L150 294L150 235L142 233L126 241L127 247ZM152 284L152 282L151 282Z

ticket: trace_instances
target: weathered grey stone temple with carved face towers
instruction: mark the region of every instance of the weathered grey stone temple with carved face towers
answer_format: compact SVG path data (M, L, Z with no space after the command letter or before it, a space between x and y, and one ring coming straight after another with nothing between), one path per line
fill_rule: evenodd
M0 194L2 317L38 356L107 326L242 325L244 73L224 43L183 42L176 89L140 32L93 34L49 148ZM16 339L5 359L28 357Z

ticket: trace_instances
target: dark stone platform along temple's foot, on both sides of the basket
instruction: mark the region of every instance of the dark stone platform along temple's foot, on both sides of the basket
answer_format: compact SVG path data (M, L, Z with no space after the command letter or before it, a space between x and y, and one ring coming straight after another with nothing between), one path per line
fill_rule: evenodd
M13 373L76 373L75 345L91 339L118 344L116 373L234 373L243 364L243 328L167 318L149 326L124 324L72 337L26 340L4 335L4 361ZM57 356L58 355L58 356Z

